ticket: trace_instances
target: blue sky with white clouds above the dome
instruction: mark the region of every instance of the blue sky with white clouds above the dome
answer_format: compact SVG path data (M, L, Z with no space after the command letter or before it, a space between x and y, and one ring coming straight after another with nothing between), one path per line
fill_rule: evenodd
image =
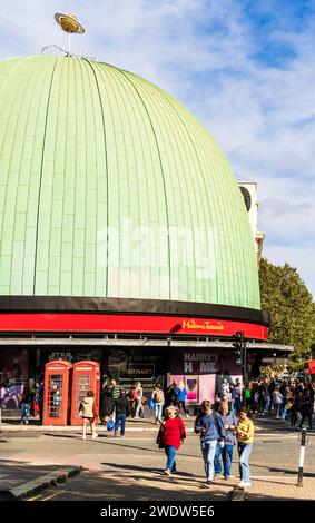
M315 0L17 0L1 6L0 58L66 46L58 11L87 28L77 51L169 91L258 181L264 255L315 296Z

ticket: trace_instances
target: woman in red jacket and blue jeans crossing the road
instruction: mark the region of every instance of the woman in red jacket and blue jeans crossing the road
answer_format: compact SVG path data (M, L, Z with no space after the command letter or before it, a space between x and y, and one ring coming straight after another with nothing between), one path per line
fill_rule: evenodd
M186 437L183 420L177 416L176 413L177 409L174 406L169 406L165 409L165 421L160 428L160 437L158 437L159 446L165 450L167 455L164 474L168 476L171 472L176 471L176 452Z

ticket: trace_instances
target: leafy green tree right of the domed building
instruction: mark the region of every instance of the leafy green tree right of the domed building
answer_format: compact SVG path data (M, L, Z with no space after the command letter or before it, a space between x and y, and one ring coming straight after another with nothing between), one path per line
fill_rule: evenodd
M278 267L262 258L259 265L262 308L272 316L268 341L294 346L293 369L311 358L315 343L315 304L296 268Z

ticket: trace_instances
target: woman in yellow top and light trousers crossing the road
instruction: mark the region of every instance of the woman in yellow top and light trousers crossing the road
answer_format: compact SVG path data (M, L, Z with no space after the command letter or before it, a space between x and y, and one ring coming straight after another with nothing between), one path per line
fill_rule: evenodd
M248 407L243 407L239 413L236 437L240 476L238 486L244 489L250 486L249 455L253 448L254 430L253 412Z

